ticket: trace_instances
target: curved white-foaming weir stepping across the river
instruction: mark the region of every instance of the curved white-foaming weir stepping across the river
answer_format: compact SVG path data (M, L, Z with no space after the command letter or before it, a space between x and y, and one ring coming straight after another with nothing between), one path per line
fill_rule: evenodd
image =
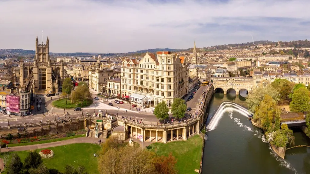
M228 110L237 111L240 114L246 116L246 117L252 117L253 113L249 112L245 107L238 105L234 102L223 102L216 110L215 114L211 116L210 121L206 124L207 131L214 130L219 122L219 120L222 118L224 112Z

